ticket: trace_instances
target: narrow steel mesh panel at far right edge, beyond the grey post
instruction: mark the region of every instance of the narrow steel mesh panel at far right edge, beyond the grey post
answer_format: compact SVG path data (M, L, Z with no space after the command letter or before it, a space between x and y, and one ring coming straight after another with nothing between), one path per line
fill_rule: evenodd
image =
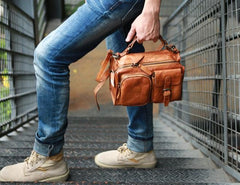
M228 164L239 170L240 128L239 128L239 75L240 75L240 2L226 3L226 76L228 110ZM223 103L223 102L221 102Z

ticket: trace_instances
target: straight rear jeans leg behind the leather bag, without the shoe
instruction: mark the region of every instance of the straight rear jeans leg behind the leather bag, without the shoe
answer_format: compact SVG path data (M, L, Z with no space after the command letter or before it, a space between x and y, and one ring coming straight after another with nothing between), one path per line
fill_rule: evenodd
M107 48L113 50L113 52L122 52L128 46L125 38L129 28L130 24L127 24L108 36L106 39ZM135 43L130 52L144 52L144 47L142 44ZM129 117L128 148L135 152L149 152L153 150L152 103L145 106L129 106L127 107L127 112Z

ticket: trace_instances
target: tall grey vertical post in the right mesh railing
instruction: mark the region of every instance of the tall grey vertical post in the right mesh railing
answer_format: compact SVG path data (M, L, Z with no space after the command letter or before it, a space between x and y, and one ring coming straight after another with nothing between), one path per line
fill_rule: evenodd
M222 78L223 78L223 123L224 123L224 162L228 163L228 125L227 125L227 74L226 74L226 38L225 38L225 0L221 0L222 34Z

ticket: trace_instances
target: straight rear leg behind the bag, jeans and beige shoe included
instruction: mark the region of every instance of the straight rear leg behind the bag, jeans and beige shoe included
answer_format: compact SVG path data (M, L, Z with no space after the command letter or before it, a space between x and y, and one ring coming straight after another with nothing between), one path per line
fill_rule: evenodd
M107 37L107 48L114 52L122 52L128 45L125 42L129 25L117 30ZM142 44L135 43L130 52L143 52ZM152 103L145 106L127 107L129 125L128 141L118 150L98 154L95 162L107 168L152 168L156 165L153 152L153 115ZM134 159L134 160L133 160ZM139 160L141 159L141 160Z

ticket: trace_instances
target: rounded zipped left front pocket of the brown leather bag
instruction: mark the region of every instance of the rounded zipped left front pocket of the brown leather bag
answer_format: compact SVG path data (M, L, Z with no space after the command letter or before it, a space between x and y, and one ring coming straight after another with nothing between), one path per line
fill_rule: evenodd
M150 102L151 78L146 74L123 74L118 84L116 105L140 106Z

